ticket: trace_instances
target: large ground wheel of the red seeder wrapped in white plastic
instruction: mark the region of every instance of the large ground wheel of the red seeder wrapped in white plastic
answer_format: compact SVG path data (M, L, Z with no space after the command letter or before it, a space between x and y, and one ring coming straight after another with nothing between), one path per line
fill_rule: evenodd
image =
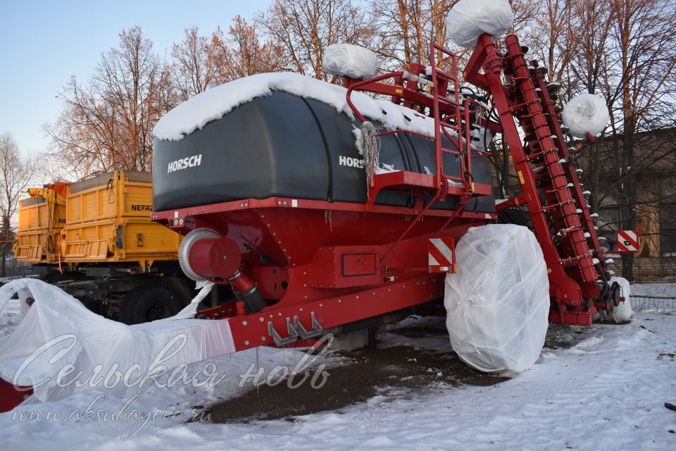
M456 258L444 296L453 350L480 371L530 369L549 326L549 279L535 235L512 224L470 228Z

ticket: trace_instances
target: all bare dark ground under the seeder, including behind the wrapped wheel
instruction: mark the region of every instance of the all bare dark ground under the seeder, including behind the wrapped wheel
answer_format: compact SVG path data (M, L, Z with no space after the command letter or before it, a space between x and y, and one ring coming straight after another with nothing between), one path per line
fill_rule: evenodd
M404 321L387 330L378 349L341 354L344 362L326 370L329 376L321 388L312 388L309 380L294 389L285 382L252 386L239 397L207 407L206 413L214 423L298 421L297 416L314 412L342 413L344 407L376 395L391 402L430 393L434 384L486 386L508 379L461 362L449 345L444 319ZM592 336L594 328L551 324L544 347L568 349Z

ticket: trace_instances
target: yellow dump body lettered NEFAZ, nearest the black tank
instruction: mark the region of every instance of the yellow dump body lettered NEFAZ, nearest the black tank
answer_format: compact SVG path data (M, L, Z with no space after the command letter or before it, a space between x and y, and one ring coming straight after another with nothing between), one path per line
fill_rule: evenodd
M61 231L67 263L135 263L175 260L181 236L150 221L152 174L115 171L68 187Z

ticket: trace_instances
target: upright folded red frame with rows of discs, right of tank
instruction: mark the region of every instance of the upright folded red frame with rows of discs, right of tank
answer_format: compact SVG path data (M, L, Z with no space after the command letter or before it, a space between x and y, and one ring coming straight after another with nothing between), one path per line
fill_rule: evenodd
M528 207L549 271L551 321L589 325L594 304L602 307L607 302L601 292L607 287L603 250L544 75L534 61L525 59L515 35L508 35L505 45L506 51L499 52L489 35L480 37L464 73L466 80L492 95L520 178L523 194L498 208ZM512 118L522 126L530 152L522 146ZM534 167L539 168L537 175Z

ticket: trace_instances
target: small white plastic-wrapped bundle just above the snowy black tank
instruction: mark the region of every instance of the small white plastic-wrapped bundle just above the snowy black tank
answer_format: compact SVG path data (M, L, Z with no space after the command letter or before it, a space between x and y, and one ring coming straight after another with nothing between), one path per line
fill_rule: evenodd
M322 67L334 77L373 78L378 58L373 51L352 44L333 44L324 51Z

